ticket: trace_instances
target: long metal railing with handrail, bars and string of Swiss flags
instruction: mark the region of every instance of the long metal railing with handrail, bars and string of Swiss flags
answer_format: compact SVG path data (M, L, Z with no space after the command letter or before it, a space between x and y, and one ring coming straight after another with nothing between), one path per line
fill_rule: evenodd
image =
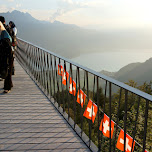
M92 151L151 151L151 95L17 41L18 62Z

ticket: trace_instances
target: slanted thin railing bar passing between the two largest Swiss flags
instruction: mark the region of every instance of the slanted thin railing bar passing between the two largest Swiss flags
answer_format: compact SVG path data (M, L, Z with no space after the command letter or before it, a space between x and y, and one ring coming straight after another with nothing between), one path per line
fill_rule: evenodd
M116 136L118 131L118 122L119 122L119 110L120 110L120 102L121 102L121 94L122 94L122 88L120 88L120 96L119 96L119 103L118 103L118 112L117 112L117 121L116 121L116 132L115 132L115 138L114 138L114 152L116 150Z

